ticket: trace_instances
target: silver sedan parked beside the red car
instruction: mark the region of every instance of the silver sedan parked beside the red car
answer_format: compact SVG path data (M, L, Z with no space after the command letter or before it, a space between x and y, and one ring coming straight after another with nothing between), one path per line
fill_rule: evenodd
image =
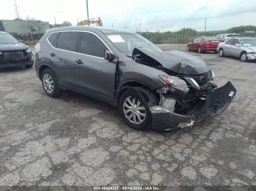
M219 56L230 55L240 58L242 62L256 59L256 39L252 37L232 38L217 47Z

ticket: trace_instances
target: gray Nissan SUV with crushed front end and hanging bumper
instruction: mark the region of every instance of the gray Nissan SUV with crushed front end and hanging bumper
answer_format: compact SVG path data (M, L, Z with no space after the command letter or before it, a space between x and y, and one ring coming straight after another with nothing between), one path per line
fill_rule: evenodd
M71 90L105 101L138 130L192 126L221 114L236 94L229 81L216 89L214 72L203 60L163 51L128 30L54 28L35 49L35 72L48 96Z

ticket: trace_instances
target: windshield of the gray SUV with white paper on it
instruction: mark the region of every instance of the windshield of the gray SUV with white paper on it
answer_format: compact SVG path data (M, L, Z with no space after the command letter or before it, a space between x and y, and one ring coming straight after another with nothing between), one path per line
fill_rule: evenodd
M131 33L106 33L105 34L111 43L126 56L132 56L134 48L148 48L154 50L161 50L155 44L145 39L139 34Z

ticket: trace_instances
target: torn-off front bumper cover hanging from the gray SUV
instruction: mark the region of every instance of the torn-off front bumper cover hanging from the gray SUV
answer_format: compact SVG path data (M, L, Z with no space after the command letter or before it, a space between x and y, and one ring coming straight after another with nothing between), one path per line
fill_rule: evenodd
M151 112L151 128L160 131L168 131L177 128L192 126L194 122L215 117L223 113L234 99L236 89L230 81L221 88L207 94L204 105L200 110L190 111L188 116L169 112L163 107L154 106L149 108Z

